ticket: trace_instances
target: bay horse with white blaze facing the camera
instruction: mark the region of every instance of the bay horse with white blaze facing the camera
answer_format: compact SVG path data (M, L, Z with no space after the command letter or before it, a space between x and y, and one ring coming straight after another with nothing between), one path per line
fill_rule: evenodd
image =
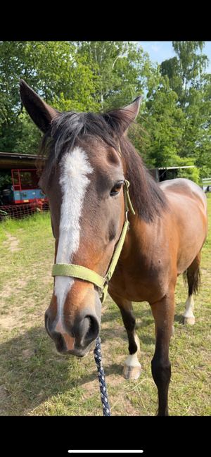
M155 320L151 368L158 388L158 415L168 415L174 289L177 276L186 272L183 317L185 324L193 324L193 293L207 236L205 193L186 179L157 184L144 167L127 138L141 96L125 108L99 115L60 113L23 80L20 96L44 133L41 150L48 159L39 184L49 200L55 264L79 265L105 277L128 217L129 230L108 281L108 293L120 308L129 339L123 376L140 376L132 302L148 301ZM126 181L135 214L125 212ZM57 351L86 356L95 345L100 323L99 287L89 280L56 274L45 326Z

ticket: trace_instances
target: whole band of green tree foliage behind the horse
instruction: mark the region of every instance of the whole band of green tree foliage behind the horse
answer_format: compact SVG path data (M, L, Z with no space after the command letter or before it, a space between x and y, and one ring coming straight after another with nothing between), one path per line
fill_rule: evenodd
M179 173L196 182L198 174L211 176L211 75L205 73L204 42L172 46L175 56L159 66L132 42L0 42L0 151L39 149L41 132L20 101L20 78L59 111L106 111L145 92L137 126L128 134L146 165L193 163L194 171Z

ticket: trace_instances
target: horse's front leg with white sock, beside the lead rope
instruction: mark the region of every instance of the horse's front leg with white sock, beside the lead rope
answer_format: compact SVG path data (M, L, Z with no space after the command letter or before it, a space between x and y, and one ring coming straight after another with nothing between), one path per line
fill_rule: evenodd
M139 338L136 334L136 318L134 317L132 301L120 299L119 297L110 294L111 298L120 308L124 327L127 330L129 341L129 356L124 363L122 376L125 379L137 380L141 375L141 364L138 360L138 353L140 350Z

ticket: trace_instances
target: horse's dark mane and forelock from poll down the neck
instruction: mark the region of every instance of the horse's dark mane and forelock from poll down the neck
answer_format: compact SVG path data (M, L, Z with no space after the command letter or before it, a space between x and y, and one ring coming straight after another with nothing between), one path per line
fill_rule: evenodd
M51 129L41 143L41 157L48 156L47 169L49 177L56 168L60 157L67 149L72 151L75 144L87 134L98 137L117 151L121 149L124 176L129 181L129 194L132 205L139 216L151 223L156 215L161 216L167 208L167 199L162 189L156 184L143 165L134 146L123 132L131 124L129 111L115 109L103 114L95 113L61 113L54 119Z

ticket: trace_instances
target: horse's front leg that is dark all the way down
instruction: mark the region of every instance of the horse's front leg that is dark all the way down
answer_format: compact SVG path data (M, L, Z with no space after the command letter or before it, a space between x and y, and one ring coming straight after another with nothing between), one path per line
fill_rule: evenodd
M155 319L155 354L151 363L153 380L158 388L158 415L168 415L168 389L171 377L169 346L174 321L174 292L151 303Z

